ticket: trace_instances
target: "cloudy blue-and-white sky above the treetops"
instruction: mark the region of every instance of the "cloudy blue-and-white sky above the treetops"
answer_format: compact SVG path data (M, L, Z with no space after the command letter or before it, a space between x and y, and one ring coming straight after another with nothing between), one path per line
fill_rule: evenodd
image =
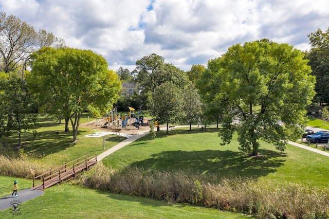
M0 0L0 10L130 71L156 53L182 70L267 38L309 50L329 27L327 0Z

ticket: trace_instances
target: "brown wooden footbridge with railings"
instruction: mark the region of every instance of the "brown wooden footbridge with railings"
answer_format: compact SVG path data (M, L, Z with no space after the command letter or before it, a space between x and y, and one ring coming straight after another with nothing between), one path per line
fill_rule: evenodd
M90 166L97 163L97 155L89 157L89 154L78 157L65 165L52 169L46 173L39 176L33 177L33 187L34 190L45 190L53 185L62 184L63 180L67 180L76 177L83 170L88 170Z

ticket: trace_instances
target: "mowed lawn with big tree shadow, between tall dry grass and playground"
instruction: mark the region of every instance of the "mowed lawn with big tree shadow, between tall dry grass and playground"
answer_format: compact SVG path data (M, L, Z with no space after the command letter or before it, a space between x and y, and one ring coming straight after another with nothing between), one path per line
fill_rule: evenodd
M157 132L152 142L145 136L102 160L105 166L121 169L132 165L157 170L193 170L223 177L253 177L260 184L295 182L310 187L329 184L329 157L287 145L280 152L261 142L260 157L240 152L234 136L231 144L220 145L215 129L176 129L169 135Z

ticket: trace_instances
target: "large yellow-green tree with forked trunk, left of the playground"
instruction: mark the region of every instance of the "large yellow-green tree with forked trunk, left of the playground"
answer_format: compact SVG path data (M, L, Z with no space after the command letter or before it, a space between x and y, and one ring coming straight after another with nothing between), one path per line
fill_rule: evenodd
M89 110L95 116L117 101L120 81L107 69L105 59L90 50L44 47L31 56L27 83L43 111L71 122L77 141L80 117Z

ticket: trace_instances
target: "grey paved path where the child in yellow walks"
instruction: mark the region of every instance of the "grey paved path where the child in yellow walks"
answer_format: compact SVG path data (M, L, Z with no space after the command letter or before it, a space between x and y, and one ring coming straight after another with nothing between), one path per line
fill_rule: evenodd
M6 197L0 198L0 211L12 208L13 204L21 204L35 197L43 195L44 193L41 190L23 189L19 190L17 194L20 194L20 196L13 198L10 194Z

